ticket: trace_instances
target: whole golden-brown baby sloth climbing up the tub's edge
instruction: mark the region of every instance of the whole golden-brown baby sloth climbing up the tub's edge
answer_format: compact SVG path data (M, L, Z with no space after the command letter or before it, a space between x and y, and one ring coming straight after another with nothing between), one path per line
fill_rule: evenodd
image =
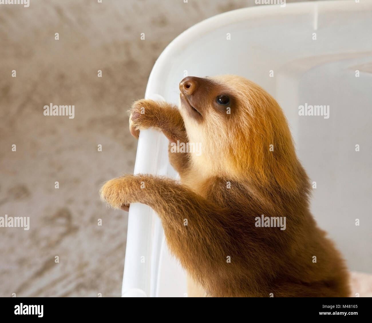
M274 98L235 75L186 77L179 88L179 107L139 100L129 121L134 136L148 127L166 135L181 183L125 175L103 185L103 200L152 207L170 251L208 296L349 296L347 269L309 211L310 181ZM174 152L177 141L201 143L202 153Z

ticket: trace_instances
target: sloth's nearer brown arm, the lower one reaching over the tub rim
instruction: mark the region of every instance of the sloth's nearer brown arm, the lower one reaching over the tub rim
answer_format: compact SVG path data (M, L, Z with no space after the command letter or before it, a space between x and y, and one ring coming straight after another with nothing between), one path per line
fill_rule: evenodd
M212 270L216 263L226 266L232 252L228 214L188 187L169 178L139 174L114 178L100 193L116 209L137 202L150 206L162 221L172 252L191 272ZM201 263L203 269L198 268Z

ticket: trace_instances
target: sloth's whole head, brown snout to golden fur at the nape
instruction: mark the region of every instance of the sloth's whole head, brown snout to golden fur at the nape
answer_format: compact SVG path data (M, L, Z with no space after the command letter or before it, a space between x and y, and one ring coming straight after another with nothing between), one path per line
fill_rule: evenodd
M247 177L267 187L298 189L304 173L279 104L263 88L236 75L185 77L180 112L193 162L207 176Z

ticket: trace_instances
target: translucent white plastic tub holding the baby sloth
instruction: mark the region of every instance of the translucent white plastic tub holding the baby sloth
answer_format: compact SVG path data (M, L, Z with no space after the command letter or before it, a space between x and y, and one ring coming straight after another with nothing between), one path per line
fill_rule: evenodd
M350 269L370 272L372 2L263 5L207 19L167 46L145 97L178 103L178 84L186 73L242 75L276 98L298 156L317 183L311 204L315 219ZM304 104L329 105L329 118L299 116ZM135 173L176 177L167 147L161 133L142 131ZM187 295L185 272L169 255L161 222L142 204L129 211L122 295Z

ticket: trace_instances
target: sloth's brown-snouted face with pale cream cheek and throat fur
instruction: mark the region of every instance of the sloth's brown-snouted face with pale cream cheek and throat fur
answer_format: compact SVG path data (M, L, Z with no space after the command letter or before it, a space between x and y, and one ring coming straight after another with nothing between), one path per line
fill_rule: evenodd
M240 119L246 109L237 90L244 87L241 79L235 76L230 80L228 75L223 75L185 77L180 82L180 113L190 143L200 144L201 155L195 158L200 167L209 167L204 173L212 171L211 164L226 169L225 155L230 155L226 150L238 144L234 136L244 129Z

